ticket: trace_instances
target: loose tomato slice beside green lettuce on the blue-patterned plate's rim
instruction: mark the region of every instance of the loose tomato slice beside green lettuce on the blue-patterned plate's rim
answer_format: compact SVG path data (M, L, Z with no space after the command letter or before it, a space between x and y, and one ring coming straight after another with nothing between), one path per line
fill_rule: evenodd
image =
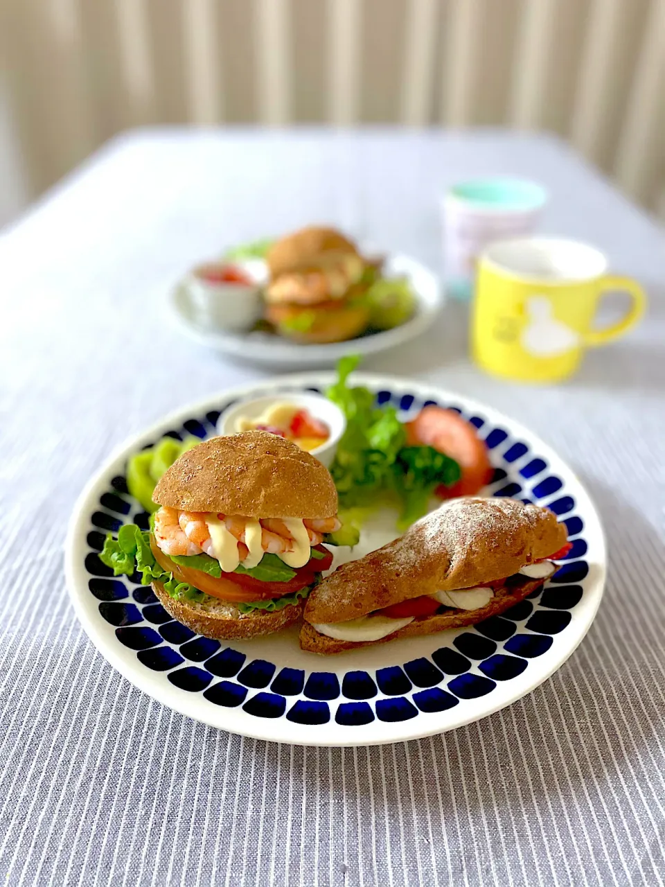
M406 423L407 443L411 446L432 446L459 463L462 476L451 487L443 484L434 491L440 498L473 496L492 476L492 467L485 442L473 425L457 412L441 406L424 407L416 418Z

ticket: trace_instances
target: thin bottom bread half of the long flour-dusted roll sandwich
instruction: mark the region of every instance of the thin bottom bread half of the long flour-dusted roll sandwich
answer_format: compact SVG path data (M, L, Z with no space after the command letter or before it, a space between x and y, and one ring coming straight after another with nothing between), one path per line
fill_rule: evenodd
M540 585L543 585L543 579L526 579L524 583L517 586L504 586L495 591L494 597L489 601L487 607L481 607L477 610L447 609L441 614L414 619L413 622L404 625L398 632L388 634L387 637L380 640L363 640L356 643L349 640L335 640L325 634L319 634L313 625L305 622L301 628L301 648L308 650L309 653L333 655L335 653L344 653L346 650L355 650L359 647L383 644L387 640L415 638L423 634L443 632L447 628L461 628L464 625L474 625L482 622L483 619L489 619L489 616L498 616L499 613L504 613L505 610L514 607L520 600L524 600L528 594L535 592Z

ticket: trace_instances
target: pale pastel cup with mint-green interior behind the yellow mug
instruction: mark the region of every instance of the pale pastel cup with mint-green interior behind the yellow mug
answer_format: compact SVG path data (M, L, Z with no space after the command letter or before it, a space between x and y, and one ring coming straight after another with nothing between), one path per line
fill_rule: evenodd
M544 187L526 179L476 178L450 188L442 200L448 292L468 299L478 255L495 240L531 234L546 202Z

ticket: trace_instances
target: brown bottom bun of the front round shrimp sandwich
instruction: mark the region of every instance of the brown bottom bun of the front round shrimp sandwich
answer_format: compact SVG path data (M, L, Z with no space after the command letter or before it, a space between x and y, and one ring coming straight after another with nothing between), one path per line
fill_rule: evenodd
M204 603L193 600L174 600L165 590L163 583L153 582L153 592L160 599L161 606L178 622L215 640L243 640L262 634L279 632L289 625L300 622L302 605L292 604L270 613L268 610L254 610L241 613L239 608L223 600L208 596Z

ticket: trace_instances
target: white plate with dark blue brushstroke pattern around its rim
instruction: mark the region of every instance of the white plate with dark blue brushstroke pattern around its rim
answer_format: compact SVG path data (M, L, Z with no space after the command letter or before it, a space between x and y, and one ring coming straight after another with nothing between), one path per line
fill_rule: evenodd
M108 530L147 515L127 492L129 455L164 434L215 433L239 397L325 389L329 373L283 376L172 413L117 451L82 492L66 542L67 584L90 639L148 695L232 733L301 745L398 742L483 718L519 699L573 652L599 607L606 548L599 517L573 472L526 428L495 410L415 381L358 375L405 412L454 408L479 428L496 468L488 495L549 506L573 549L544 591L470 628L323 657L303 652L297 629L228 644L195 635L161 607L149 586L112 577L98 551ZM384 515L357 553L395 533Z

